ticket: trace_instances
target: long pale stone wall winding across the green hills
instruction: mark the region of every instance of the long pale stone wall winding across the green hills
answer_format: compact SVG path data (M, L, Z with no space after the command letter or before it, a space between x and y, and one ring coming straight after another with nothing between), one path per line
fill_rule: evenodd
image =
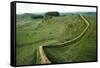
M46 56L46 54L45 54L45 52L44 52L43 47L59 47L59 46L63 47L63 46L66 46L66 45L64 45L64 44L68 44L68 43L74 42L74 41L76 41L77 39L80 39L80 38L85 34L85 32L86 32L87 29L89 28L90 24L89 24L89 22L85 19L84 16L82 16L81 14L80 14L79 16L80 16L81 19L84 20L84 22L87 24L86 28L82 31L82 33L81 33L80 35L78 35L77 37L75 37L74 39L69 40L69 41L66 41L66 42L64 42L64 43L60 43L59 45L56 45L56 46L53 46L53 45L50 45L50 46L40 46L39 50L40 50L40 57L41 57L41 60L47 61L46 63L51 63L51 61L47 58L47 56ZM62 46L62 45L63 45L63 46ZM42 52L43 54L41 54L41 52ZM43 57L43 55L44 55L44 57ZM41 61L41 64L44 64L44 63Z

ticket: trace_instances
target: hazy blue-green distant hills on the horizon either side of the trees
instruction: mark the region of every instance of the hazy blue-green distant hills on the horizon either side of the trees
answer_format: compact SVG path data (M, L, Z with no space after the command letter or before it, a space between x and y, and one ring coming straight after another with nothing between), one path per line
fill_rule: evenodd
M59 12L60 16L70 16L70 15L79 15L82 14L84 16L96 16L96 12ZM43 18L45 13L24 13L17 14L17 20L26 20L27 19L39 19Z

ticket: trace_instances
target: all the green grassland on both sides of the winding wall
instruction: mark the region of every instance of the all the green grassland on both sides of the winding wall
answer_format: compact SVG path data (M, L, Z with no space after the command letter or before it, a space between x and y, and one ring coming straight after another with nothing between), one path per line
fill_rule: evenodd
M79 15L57 16L45 20L17 17L16 64L40 64L39 46L51 63L96 60L96 16L84 16L90 26L77 41L60 45L79 36L86 28ZM55 47L50 47L55 46Z

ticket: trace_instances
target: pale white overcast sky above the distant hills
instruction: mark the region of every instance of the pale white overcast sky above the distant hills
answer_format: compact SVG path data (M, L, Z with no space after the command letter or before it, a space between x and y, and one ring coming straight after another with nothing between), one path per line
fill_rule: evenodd
M58 12L96 12L95 7L61 6L46 4L17 3L16 13L44 13L48 11Z

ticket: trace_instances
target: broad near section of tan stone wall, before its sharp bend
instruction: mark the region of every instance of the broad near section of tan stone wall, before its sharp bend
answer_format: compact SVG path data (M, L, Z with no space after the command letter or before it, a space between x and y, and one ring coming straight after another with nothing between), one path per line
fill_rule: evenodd
M39 52L40 52L40 63L41 64L50 64L51 62L49 61L49 59L46 57L44 50L43 50L43 46L39 47Z

